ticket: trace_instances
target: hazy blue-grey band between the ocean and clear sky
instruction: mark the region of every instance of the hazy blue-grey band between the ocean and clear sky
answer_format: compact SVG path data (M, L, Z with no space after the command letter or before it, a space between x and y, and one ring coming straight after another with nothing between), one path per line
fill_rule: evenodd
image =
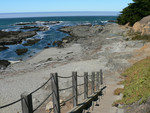
M68 17L68 16L118 16L118 11L67 11L67 12L20 12L0 13L0 18L28 18L28 17Z

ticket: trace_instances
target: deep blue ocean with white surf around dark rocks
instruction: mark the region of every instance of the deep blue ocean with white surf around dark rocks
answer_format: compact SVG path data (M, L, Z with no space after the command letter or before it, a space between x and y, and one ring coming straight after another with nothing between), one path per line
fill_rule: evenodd
M16 25L22 22L36 22L37 26L44 26L44 21L59 21L60 23L45 25L49 28L47 31L39 31L36 36L29 39L41 39L38 43L32 46L23 46L26 40L17 45L6 45L9 49L0 52L0 60L26 60L31 56L42 51L45 47L53 47L52 43L56 40L68 36L67 33L58 31L59 28L64 26L74 25L103 25L109 23L108 20L116 20L117 16L62 16L62 17L22 17L22 18L0 18L0 30L3 31L20 31L23 26ZM32 25L33 26L33 25ZM23 55L17 55L16 49L27 48L28 52Z

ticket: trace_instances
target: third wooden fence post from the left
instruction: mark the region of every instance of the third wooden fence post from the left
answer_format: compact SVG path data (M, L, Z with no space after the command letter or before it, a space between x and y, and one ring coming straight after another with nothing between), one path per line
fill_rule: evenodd
M73 107L78 104L77 72L72 72Z

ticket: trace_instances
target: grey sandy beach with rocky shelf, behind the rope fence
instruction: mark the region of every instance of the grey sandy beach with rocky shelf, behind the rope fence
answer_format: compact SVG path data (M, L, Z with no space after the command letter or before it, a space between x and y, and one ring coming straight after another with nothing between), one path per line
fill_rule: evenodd
M84 72L103 70L106 94L109 93L108 103L101 104L99 113L116 113L118 108L112 107L113 101L120 98L113 91L121 80L120 73L134 62L135 51L144 46L142 41L126 41L128 29L117 24L105 26L73 26L62 28L75 39L65 43L64 48L48 48L26 61L13 62L5 70L0 71L0 106L9 104L40 87L50 78L50 73L57 72L60 76L70 76L72 71L79 75ZM145 56L146 57L146 56ZM139 58L140 60L140 58ZM83 80L78 81L82 83ZM59 80L60 88L70 86L68 79ZM50 92L50 83L33 95L34 107L37 106ZM71 91L60 95L67 97ZM108 97L108 98L109 98ZM102 101L105 101L105 95ZM105 107L107 105L107 108ZM21 113L21 104L17 103L0 110L0 113ZM43 111L44 113L45 111Z

